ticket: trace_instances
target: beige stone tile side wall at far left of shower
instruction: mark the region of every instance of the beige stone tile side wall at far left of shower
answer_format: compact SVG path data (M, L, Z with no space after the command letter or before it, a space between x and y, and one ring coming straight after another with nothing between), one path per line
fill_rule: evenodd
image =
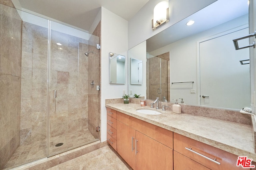
M9 6L0 0L0 169L20 144L22 20Z

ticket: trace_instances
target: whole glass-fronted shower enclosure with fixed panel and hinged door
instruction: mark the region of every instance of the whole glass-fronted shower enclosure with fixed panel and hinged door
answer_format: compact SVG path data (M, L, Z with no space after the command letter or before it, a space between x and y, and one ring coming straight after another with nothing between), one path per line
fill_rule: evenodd
M0 169L98 141L99 37L3 4L0 11Z

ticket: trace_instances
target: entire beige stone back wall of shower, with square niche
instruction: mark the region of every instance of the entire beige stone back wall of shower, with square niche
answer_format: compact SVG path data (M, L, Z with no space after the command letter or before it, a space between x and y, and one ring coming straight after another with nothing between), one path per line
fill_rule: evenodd
M48 29L24 22L23 30L21 143L26 145L46 141ZM62 46L56 45L58 42ZM88 129L86 43L51 31L50 137ZM54 90L57 90L56 102Z

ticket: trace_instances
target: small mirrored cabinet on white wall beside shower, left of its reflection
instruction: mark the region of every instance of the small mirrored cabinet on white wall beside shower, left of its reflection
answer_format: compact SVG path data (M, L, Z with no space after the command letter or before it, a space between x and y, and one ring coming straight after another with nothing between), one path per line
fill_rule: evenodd
M109 53L110 84L125 84L125 56Z

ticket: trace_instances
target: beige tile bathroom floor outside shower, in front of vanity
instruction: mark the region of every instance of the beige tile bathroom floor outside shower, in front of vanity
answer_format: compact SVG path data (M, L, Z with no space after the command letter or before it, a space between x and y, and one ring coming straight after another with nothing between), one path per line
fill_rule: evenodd
M108 145L48 170L132 170L132 168Z

